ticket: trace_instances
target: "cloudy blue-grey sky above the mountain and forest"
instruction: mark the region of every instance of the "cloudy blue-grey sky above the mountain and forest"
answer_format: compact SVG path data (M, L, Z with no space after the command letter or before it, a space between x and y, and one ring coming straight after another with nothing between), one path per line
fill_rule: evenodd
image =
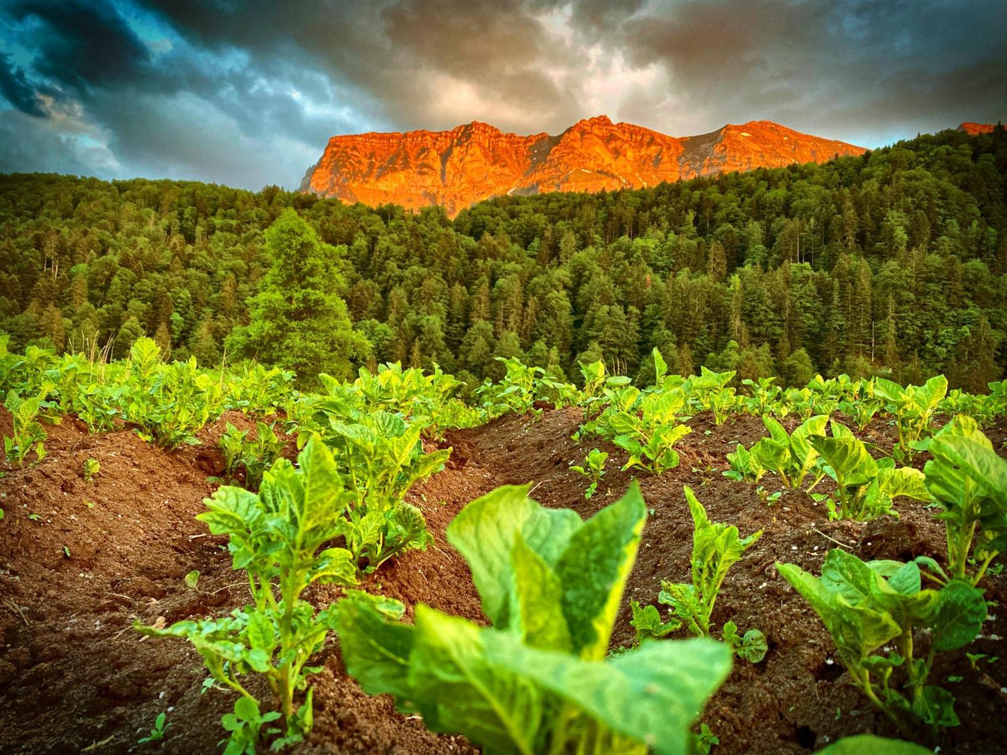
M596 115L865 147L1007 121L1007 1L0 0L0 172L294 189L336 134Z

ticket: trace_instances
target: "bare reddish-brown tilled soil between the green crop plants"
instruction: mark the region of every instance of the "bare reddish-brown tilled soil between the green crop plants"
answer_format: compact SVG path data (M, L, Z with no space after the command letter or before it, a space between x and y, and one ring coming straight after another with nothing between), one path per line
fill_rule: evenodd
M566 409L449 432L441 444L453 448L446 468L410 493L426 513L434 546L385 565L365 588L484 622L468 569L444 530L469 500L500 484L532 482L534 498L584 517L618 498L631 479L618 471L624 461L618 449L597 444L611 454L609 471L589 500L583 478L569 470L591 447L570 440L581 420L579 410ZM215 442L228 422L254 432L254 422L228 413L201 431L201 445L166 452L128 429L89 435L65 418L46 428L49 454L41 463L6 470L0 479L0 752L141 751L149 746L137 740L162 712L170 722L162 752L219 751L220 717L233 695L202 689L205 672L186 643L144 637L132 624L226 614L246 600L225 540L194 518L215 485L207 477L223 471ZM0 413L0 432L9 433L9 423ZM713 615L716 627L733 619L742 631L761 629L769 644L762 662L735 664L704 711L702 720L720 739L715 755L800 755L854 734L895 735L860 692L844 684L848 674L824 626L774 564L817 573L826 552L840 546L863 559L942 560L943 526L924 505L904 499L896 504L898 518L873 522L830 522L803 491L784 491L767 505L755 485L721 475L736 443L747 446L765 434L761 421L737 417L716 426L700 415L689 424L680 466L640 479L653 515L613 645L632 640L630 598L657 604L662 580L689 578L692 519L682 488L690 485L712 519L736 524L742 535L763 533L728 574ZM988 435L1001 447L1007 423ZM880 421L861 437L882 451L892 445L891 428ZM293 451L291 444L287 454ZM101 463L91 482L83 473L88 458ZM764 482L775 487L771 476ZM828 491L826 483L820 488ZM184 579L192 570L199 572L195 589ZM982 586L998 604L1007 598L1007 576L990 576ZM316 587L306 597L322 606L338 594ZM934 680L954 691L962 721L941 743L944 753L1007 752L1007 648L996 625L988 623L966 649L1000 659L973 669L963 649L936 663ZM386 696L366 696L345 674L334 637L313 662L322 666L311 680L315 726L309 741L290 752L477 752L463 737L428 733Z

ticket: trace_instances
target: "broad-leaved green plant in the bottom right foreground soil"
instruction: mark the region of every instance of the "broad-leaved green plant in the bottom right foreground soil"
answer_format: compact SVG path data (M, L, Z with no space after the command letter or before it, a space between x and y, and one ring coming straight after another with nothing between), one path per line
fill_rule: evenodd
M927 684L934 651L972 642L986 620L983 592L962 580L942 590L923 590L915 562L862 562L840 549L830 551L822 576L794 564L779 573L812 604L836 642L854 683L908 737L920 725L957 726L954 696ZM914 634L930 633L930 650L917 656ZM893 642L895 649L884 649ZM880 652L879 652L880 650ZM907 695L893 684L903 668Z

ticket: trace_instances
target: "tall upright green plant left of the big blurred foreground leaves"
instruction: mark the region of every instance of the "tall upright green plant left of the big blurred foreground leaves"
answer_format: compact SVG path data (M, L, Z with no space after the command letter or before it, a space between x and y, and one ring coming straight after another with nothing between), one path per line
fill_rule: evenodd
M209 509L196 518L213 535L230 536L235 570L248 575L252 604L218 619L179 621L165 629L136 628L156 637L183 637L202 655L210 676L241 694L223 725L231 732L228 755L256 752L262 727L281 721L284 735L277 748L300 741L311 729L312 691L295 702L307 686L305 667L324 642L331 623L329 610L316 612L301 599L313 582L352 585L356 569L342 548L321 547L343 530L343 512L353 499L336 469L332 454L311 438L295 468L278 459L266 472L258 494L240 487L218 488L205 500ZM274 592L274 584L277 591ZM258 700L240 682L255 671L266 675L279 699L279 712L262 715Z

